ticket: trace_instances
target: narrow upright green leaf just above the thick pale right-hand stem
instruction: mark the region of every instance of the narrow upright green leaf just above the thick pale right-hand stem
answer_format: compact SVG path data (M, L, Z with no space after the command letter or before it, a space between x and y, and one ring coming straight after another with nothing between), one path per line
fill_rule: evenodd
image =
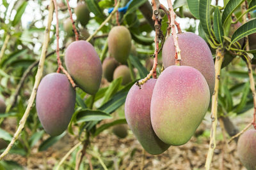
M218 7L216 7L214 11L213 30L214 30L216 39L222 44L224 31L221 23L220 9Z

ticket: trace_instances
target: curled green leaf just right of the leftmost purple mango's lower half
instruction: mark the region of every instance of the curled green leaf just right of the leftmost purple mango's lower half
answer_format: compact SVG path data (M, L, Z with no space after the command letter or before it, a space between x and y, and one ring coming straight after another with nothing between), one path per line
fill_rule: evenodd
M77 123L100 121L103 119L112 118L111 115L100 110L81 110L77 113Z

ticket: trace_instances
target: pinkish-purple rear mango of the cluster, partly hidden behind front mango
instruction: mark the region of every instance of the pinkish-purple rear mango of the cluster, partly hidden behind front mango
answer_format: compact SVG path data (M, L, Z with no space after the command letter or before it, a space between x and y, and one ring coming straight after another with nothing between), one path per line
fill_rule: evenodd
M204 39L193 32L178 34L178 43L181 50L181 66L191 66L200 71L207 81L212 96L215 85L215 69L212 53ZM166 39L163 46L164 68L175 65L175 48L173 36Z

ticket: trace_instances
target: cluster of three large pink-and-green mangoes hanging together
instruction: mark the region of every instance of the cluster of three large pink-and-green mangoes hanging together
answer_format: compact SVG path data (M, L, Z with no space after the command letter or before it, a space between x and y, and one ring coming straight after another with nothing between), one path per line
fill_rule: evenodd
M148 153L189 141L207 112L214 92L211 50L192 32L178 34L180 66L175 65L173 36L163 46L164 71L141 87L134 84L125 101L125 118Z

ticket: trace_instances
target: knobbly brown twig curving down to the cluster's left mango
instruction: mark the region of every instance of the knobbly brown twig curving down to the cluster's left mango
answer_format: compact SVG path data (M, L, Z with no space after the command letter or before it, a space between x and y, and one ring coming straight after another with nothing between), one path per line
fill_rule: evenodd
M141 87L141 85L143 85L145 82L147 82L151 76L153 76L153 78L157 78L156 67L157 67L157 56L158 56L158 50L159 50L159 34L161 31L161 21L162 21L159 19L160 5L161 4L159 3L159 0L152 0L152 9L153 9L152 20L154 20L154 22L155 22L155 30L156 30L156 36L154 39L155 40L154 64L153 64L153 67L150 70L150 72L147 74L147 76L145 78L143 78L143 80L137 81L136 85L138 85L138 87Z

